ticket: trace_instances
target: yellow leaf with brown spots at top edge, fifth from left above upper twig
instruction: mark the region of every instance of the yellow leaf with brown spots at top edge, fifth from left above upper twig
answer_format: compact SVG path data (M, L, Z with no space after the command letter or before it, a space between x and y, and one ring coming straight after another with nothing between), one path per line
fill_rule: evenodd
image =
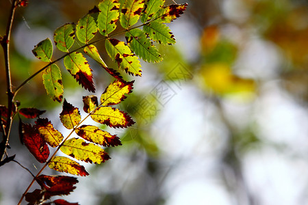
M138 22L144 0L127 0L120 11L120 24L123 28L128 29Z

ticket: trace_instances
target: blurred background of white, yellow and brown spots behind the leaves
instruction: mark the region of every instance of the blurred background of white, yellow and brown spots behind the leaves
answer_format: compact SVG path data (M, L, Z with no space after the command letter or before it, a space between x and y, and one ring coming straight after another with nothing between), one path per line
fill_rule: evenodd
M18 9L13 84L45 65L32 55L34 45L52 39L64 23L77 23L97 3L29 0ZM185 14L168 24L177 44L157 45L164 61L142 62L142 77L131 78L134 92L120 105L136 124L102 127L121 137L123 146L108 148L112 159L106 163L85 165L90 176L79 177L77 189L64 198L102 205L308 204L308 1L177 3L188 3ZM9 0L0 1L1 34L9 8ZM96 46L115 68L103 44ZM80 109L90 93L58 65L64 97ZM100 96L113 79L90 65ZM0 66L0 104L6 105L3 57ZM59 120L62 107L47 96L41 75L16 99L21 107L47 109L43 116L67 132ZM21 145L16 129L10 144L9 153L36 173L42 165ZM47 168L44 174L58 173ZM1 167L0 204L16 204L30 180L14 162Z

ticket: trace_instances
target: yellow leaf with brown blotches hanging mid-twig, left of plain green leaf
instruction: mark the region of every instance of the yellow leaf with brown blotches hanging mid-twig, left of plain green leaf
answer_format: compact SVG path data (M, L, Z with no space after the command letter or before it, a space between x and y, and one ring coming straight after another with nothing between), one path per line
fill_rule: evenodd
M119 68L122 68L128 74L141 76L142 70L140 61L138 57L131 52L127 44L111 38L106 40L105 47L108 55L116 60Z

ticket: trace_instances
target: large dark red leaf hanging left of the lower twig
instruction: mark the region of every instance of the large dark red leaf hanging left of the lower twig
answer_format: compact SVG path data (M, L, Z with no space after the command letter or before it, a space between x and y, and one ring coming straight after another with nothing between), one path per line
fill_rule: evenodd
M31 124L23 124L23 143L37 161L44 163L49 157L49 148L38 130Z

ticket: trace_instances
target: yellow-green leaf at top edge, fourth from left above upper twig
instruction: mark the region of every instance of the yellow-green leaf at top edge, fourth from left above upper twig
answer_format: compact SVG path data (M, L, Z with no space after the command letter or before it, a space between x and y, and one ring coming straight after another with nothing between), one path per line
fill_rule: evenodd
M116 22L118 21L118 9L120 3L118 0L103 0L99 3L99 17L97 18L99 32L103 36L107 36L109 33L116 29Z

